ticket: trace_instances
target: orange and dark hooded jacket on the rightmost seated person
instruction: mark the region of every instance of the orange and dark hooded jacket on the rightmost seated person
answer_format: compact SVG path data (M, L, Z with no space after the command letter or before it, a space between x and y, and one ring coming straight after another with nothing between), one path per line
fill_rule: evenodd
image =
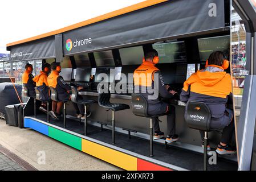
M209 65L197 71L184 82L180 100L182 102L200 101L208 105L212 117L220 118L226 110L231 97L231 77L221 67Z

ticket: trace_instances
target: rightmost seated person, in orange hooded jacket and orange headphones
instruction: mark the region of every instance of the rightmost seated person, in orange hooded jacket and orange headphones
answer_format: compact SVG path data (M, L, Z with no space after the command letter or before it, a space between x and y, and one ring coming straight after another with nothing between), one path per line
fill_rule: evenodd
M216 150L221 155L236 152L229 146L234 132L234 118L233 110L226 108L228 98L232 97L231 76L225 72L227 68L229 68L229 61L225 59L224 53L212 52L206 61L205 69L193 73L184 82L180 96L182 102L200 101L209 107L212 114L210 130L223 129L222 138ZM200 131L200 134L204 141L204 132ZM208 150L210 150L209 144Z

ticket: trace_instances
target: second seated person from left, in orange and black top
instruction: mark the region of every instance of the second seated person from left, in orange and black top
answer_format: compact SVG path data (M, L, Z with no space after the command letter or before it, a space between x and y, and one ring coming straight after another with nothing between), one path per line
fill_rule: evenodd
M45 63L42 65L42 71L40 71L40 74L33 78L33 81L36 82L36 88L41 93L42 100L50 100L48 81L47 81L47 77L50 72L51 72L51 65L48 63ZM46 102L42 102L42 105L39 107L39 110L47 112Z

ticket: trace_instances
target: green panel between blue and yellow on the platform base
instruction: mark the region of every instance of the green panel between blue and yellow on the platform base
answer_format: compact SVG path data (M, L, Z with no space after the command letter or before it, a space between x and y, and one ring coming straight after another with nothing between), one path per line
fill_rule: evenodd
M80 137L76 137L75 135L68 134L50 126L48 128L48 136L80 151L82 150L82 139Z

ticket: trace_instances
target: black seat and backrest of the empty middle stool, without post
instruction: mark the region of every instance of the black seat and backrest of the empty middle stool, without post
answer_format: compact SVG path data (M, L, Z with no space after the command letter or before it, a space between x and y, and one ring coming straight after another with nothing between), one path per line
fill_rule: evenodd
M99 105L101 107L111 109L113 111L119 111L119 110L125 110L125 109L130 109L130 106L127 104L113 104L109 102L111 97L110 93L101 93L99 94Z

